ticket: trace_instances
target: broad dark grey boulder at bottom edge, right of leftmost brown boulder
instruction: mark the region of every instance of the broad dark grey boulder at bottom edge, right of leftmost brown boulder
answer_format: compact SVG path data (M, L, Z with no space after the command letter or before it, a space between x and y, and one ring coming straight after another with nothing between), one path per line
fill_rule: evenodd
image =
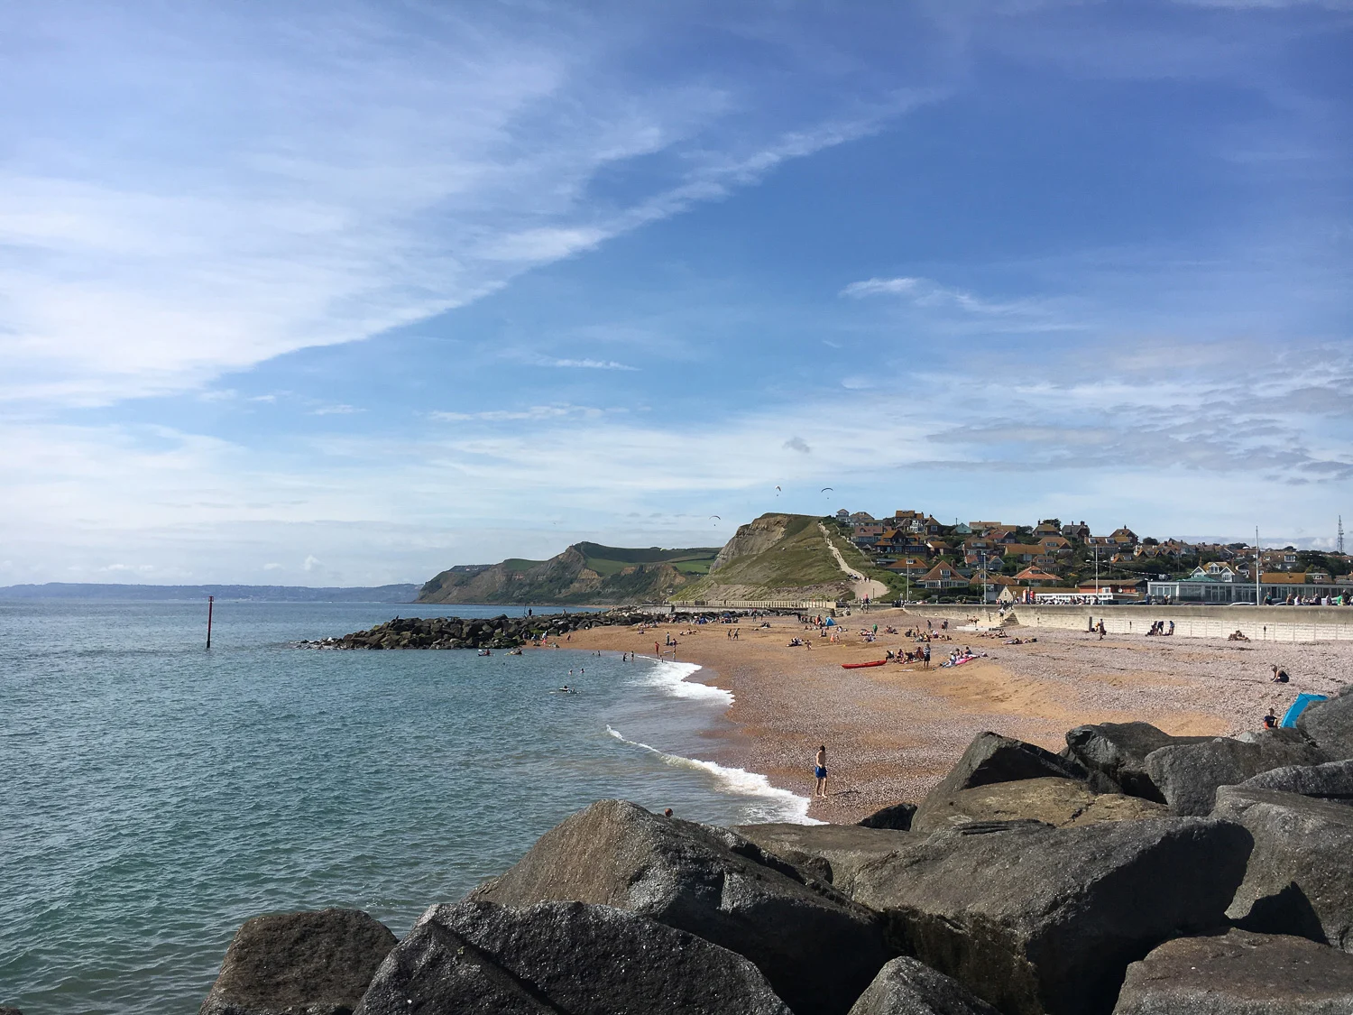
M357 1015L792 1015L741 955L622 909L434 905Z

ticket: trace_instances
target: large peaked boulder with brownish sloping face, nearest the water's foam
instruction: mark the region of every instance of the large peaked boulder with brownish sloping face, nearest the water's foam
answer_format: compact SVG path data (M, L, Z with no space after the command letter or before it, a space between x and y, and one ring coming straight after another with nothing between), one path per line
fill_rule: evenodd
M578 900L746 955L797 1015L844 1015L892 958L878 918L748 839L602 800L545 832L471 899Z

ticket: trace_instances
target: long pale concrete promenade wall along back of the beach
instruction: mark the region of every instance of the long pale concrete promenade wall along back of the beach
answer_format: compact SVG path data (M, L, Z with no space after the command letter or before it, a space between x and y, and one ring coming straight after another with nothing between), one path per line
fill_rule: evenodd
M999 624L994 606L908 606L920 617L977 617ZM1004 623L1023 628L1085 631L1091 618L1104 620L1111 635L1145 635L1151 624L1174 621L1174 637L1227 637L1239 631L1252 641L1353 641L1353 606L1034 606L1016 604Z

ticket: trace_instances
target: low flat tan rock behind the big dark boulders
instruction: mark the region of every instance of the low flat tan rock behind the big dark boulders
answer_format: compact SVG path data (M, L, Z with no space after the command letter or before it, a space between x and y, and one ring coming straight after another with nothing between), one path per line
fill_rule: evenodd
M1077 780L1050 777L996 782L928 801L916 812L912 831L924 834L969 821L1026 819L1061 828L1168 816L1164 804L1123 793L1096 794Z

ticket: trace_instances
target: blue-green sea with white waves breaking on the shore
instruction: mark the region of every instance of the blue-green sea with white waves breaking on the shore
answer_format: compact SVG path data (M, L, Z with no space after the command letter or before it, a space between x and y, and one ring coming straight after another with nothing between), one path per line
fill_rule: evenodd
M603 797L806 820L690 663L296 644L402 610L505 608L216 602L207 650L200 601L0 601L0 1007L191 1015L245 919L403 935Z

